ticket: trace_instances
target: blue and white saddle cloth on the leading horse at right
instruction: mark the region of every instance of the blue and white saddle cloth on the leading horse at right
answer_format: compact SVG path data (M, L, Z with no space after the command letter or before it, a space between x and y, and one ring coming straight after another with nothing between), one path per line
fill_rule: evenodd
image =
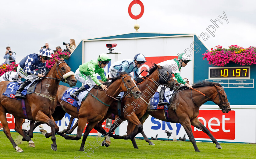
M164 98L164 102L168 102L169 103L169 99L172 97L172 96L169 96L169 97L166 97L168 96L169 94L172 94L172 92L170 91L165 91L165 98ZM149 101L149 104L150 104L150 109L153 109L153 110L156 110L156 109L165 109L167 107L167 105L158 105L158 102L159 102L159 92L156 92L153 96L153 98L151 98L151 100ZM170 103L169 103L170 104ZM165 108L164 108L165 107Z

